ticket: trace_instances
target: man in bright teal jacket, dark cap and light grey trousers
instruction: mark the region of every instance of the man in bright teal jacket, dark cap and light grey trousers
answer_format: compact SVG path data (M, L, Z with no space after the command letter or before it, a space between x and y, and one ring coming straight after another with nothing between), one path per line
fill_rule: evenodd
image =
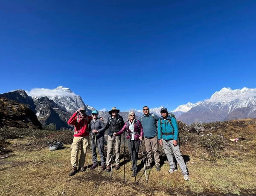
M169 173L177 171L175 162L173 161L173 155L180 166L181 172L184 176L184 180L189 180L189 173L186 167L185 161L180 153L180 147L178 145L178 125L174 117L168 114L165 107L161 110L161 118L158 121L157 133L159 144L163 145L164 152L166 153L169 161L170 170Z

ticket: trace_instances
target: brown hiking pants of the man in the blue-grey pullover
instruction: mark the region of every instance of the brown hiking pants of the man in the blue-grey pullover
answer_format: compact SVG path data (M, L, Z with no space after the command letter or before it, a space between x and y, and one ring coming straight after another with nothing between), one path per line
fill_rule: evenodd
M160 163L157 136L153 138L144 137L144 141L147 151L147 166L151 166L152 164L152 153L154 154L155 164Z

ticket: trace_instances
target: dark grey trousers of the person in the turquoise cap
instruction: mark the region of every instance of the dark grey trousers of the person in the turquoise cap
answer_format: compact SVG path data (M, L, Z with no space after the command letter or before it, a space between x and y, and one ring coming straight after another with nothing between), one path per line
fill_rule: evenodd
M98 152L100 155L100 161L101 161L101 165L105 165L106 164L106 159L105 159L105 152L104 152L104 136L101 136L99 138L96 138L97 141L97 147L98 147ZM93 155L93 163L97 164L97 151L96 151L96 143L95 143L95 137L93 135L93 141L92 141L92 155Z

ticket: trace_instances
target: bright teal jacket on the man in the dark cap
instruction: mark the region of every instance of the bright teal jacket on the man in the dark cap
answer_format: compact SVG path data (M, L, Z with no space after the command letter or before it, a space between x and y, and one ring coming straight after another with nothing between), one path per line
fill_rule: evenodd
M166 119L163 119L163 116L161 116L161 118L158 120L158 126L157 126L158 139L162 139L162 138L164 140L174 139L178 141L178 131L179 131L178 124L174 117L171 117L170 115L168 115Z

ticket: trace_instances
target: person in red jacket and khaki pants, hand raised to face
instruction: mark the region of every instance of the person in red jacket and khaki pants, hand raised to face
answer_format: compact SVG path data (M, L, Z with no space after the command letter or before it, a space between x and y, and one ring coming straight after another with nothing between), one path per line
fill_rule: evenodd
M69 176L75 175L75 173L78 170L80 171L85 170L84 162L85 162L85 156L86 156L86 149L89 142L89 133L88 133L89 124L92 119L92 117L87 115L85 112L86 112L86 108L81 107L67 121L68 124L72 124L75 127L72 150L71 150L71 164L73 168ZM79 153L80 146L81 146L81 155L80 155L80 159L78 160L78 153ZM77 170L78 165L79 165L79 168Z

